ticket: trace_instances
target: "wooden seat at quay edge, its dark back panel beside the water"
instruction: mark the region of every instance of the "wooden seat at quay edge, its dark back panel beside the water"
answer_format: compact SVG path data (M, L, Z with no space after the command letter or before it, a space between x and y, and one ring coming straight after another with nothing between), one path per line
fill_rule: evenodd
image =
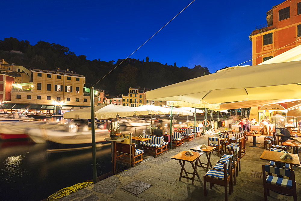
M136 145L132 143L132 146L130 144L121 144L116 143L116 152L115 152L115 159L116 162L129 165L132 163L132 165L136 165L136 163L141 162L143 160L142 155L144 153L141 149L136 149ZM130 149L132 148L132 157L130 159Z

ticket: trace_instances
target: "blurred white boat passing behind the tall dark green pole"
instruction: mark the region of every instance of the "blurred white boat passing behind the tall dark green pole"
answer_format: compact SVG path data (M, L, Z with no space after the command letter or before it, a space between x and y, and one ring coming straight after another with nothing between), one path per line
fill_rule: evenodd
M65 127L27 128L26 134L35 143L45 143L47 140L58 144L86 144L92 143L91 131L67 132ZM96 142L105 141L110 137L107 129L95 129Z

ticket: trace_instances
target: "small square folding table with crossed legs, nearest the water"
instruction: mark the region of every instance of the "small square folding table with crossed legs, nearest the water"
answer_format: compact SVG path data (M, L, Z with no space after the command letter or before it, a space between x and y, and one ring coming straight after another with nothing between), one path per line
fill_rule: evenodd
M182 152L176 154L175 156L172 156L171 158L175 159L175 160L178 160L180 162L181 167L182 167L179 180L181 181L182 177L186 178L186 179L191 179L192 180L191 184L194 184L195 175L197 175L197 178L200 178L199 174L197 173L197 163L199 161L198 159L200 158L200 156L202 156L202 153L192 152L194 154L193 156L185 156L185 153L186 153L186 151L182 151ZM183 163L182 163L182 161L183 161ZM186 171L186 169L184 167L185 162L190 162L191 163L191 166L194 170L193 173ZM193 162L195 162L195 164L193 164ZM186 176L182 176L183 170L184 170ZM192 178L188 177L188 174L191 174Z

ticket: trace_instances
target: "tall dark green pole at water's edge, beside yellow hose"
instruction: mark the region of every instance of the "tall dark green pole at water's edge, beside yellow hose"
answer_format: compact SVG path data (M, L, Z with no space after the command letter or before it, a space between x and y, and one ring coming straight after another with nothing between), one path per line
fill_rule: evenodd
M97 182L96 171L96 140L95 140L95 114L94 114L94 88L90 87L90 106L91 106L91 136L92 136L92 159L93 159L93 184ZM114 153L112 153L114 154Z

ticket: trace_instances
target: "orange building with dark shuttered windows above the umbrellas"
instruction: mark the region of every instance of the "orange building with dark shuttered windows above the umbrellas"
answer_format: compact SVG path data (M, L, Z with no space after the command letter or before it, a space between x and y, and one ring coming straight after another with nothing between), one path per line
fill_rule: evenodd
M273 6L267 12L266 21L249 36L252 41L252 65L301 44L301 0L287 0Z

